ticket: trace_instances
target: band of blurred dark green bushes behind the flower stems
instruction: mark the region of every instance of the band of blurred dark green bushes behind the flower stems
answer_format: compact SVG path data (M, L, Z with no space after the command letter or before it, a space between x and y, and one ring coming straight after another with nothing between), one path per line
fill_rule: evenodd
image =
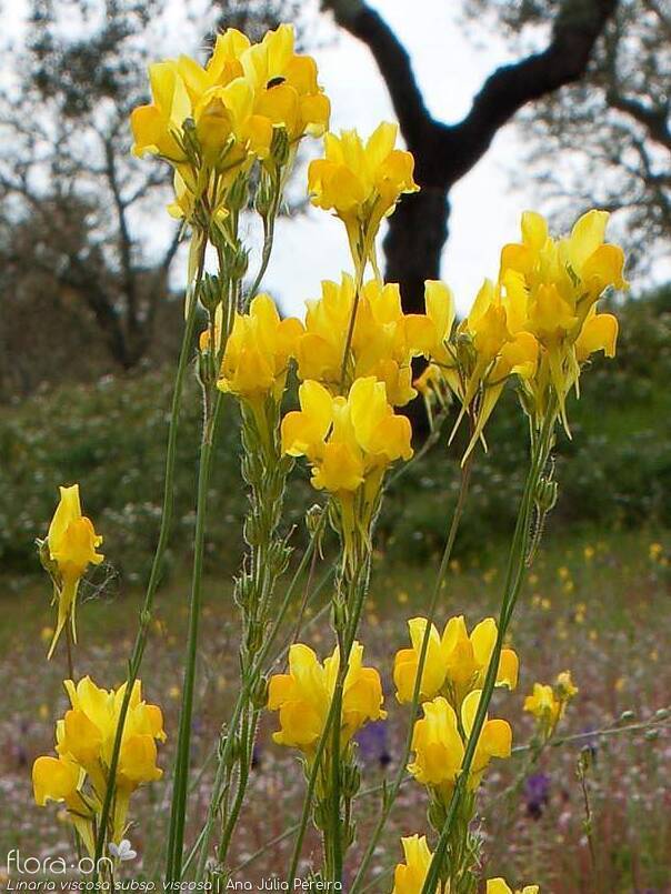
M573 441L560 435L560 501L553 529L577 525L671 525L671 289L618 310L618 358L597 360L572 399ZM109 563L129 583L141 580L159 524L170 371L104 376L90 386L43 390L0 410L0 563L14 574L38 570L33 538L43 536L56 485L80 481L87 513L103 532ZM514 522L524 473L522 414L509 393L488 430L490 452L475 464L458 549L487 551ZM231 419L237 412L231 403ZM412 465L384 502L380 544L394 560L422 561L444 538L447 505L454 499L460 445L444 462L445 436ZM193 525L200 395L194 381L184 402L176 480L173 544L188 553ZM212 478L209 554L232 567L240 555L246 495L239 478L236 424L221 426ZM571 458L571 462L567 460ZM314 502L302 466L294 472L289 523ZM303 482L304 486L301 486ZM297 532L294 540L300 536ZM121 566L121 558L123 565ZM99 574L109 577L109 565ZM113 575L116 577L116 573Z

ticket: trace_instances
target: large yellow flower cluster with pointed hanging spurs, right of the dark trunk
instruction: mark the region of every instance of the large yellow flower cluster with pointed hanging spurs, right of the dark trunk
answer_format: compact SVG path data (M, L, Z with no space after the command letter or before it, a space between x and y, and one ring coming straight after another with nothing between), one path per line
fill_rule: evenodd
M597 302L627 282L622 249L603 241L607 222L607 212L590 211L555 240L540 214L525 212L522 242L502 249L498 281L484 281L453 332L445 314L450 324L438 350L425 352L431 365L418 388L427 395L442 380L458 399L457 424L463 415L471 420L465 455L482 439L510 378L537 429L548 413L559 413L568 431L565 398L578 388L581 368L597 351L614 355L618 322L597 313Z

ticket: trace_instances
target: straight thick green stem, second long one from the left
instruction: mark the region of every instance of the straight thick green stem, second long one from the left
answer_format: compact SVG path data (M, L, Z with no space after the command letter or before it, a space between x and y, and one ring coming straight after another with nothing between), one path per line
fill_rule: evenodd
M198 654L198 632L202 596L202 565L204 555L206 518L208 489L212 459L212 443L217 423L221 414L223 395L217 392L214 408L206 416L198 474L198 506L196 514L196 536L193 546L193 577L189 610L189 634L187 641L187 663L184 685L182 690L182 707L180 714L179 736L177 742L177 761L172 790L172 812L168 836L168 865L166 877L169 882L181 878L184 825L187 813L187 795L189 790L189 765L191 751L191 717L193 714L193 690L196 685L196 660Z

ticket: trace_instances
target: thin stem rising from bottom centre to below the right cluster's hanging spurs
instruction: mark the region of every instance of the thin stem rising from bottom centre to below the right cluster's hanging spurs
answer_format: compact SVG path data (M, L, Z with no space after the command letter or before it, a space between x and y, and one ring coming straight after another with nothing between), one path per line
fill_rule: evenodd
M395 801L395 797L399 793L399 788L401 787L403 781L407 779L405 775L405 765L408 763L408 757L410 755L410 750L412 746L412 734L414 729L414 720L417 716L417 711L419 707L419 699L421 692L421 681L424 671L424 664L427 661L427 654L429 652L429 637L431 635L431 625L433 624L433 619L435 616L435 611L438 609L438 602L443 589L447 571L450 563L450 556L452 555L452 549L454 546L454 540L457 539L457 532L459 531L459 524L461 522L461 516L463 515L463 508L465 505L465 500L469 491L469 483L471 480L471 469L472 469L472 456L471 454L464 465L461 469L461 480L459 485L459 493L457 496L457 503L454 506L454 512L452 513L452 520L450 522L450 529L448 531L448 536L445 540L445 545L443 549L442 558L440 561L440 566L438 569L438 574L435 576L435 583L433 585L433 593L431 595L431 602L429 604L429 611L427 612L427 627L424 630L424 635L422 637L422 645L420 649L419 660L418 660L418 667L417 667L417 677L414 681L414 690L412 693L412 703L411 703L411 711L410 711L410 724L408 727L408 735L405 737L405 744L403 749L403 754L401 756L401 761L399 763L399 769L397 775L387 792L387 796L384 797L382 810L379 816L379 820L375 824L373 830L373 834L368 843L368 846L363 853L361 858L361 863L357 871L357 875L352 881L351 886L351 894L354 894L358 890L361 888L361 884L365 877L365 872L368 870L369 863L372 858L372 855L378 846L378 842L380 840L380 835L384 831L384 826L387 825L387 820L389 818L389 814Z

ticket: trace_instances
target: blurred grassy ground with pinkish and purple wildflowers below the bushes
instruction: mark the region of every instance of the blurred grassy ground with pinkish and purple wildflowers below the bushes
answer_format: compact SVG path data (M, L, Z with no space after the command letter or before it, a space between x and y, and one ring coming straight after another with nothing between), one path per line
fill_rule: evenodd
M557 539L550 529L548 534L548 546L530 574L512 629L513 645L521 659L520 686L512 694L498 693L493 707L494 715L511 721L518 744L531 734L530 720L521 712L523 695L535 680L550 682L567 667L573 673L580 695L565 717L565 734L610 726L628 710L645 720L668 705L671 692L671 670L664 652L671 636L671 616L665 611L668 542L665 553L651 559L650 545L659 540L659 532L608 536L594 533L589 539L581 533ZM589 550L585 556L585 546L593 549L593 556ZM404 622L423 611L434 574L429 563L418 566L389 560L380 555L377 562L360 636L365 644L367 663L382 674L390 712L383 745L370 736L368 743L362 742L364 787L395 770L407 712L393 697L392 655L405 645ZM453 563L441 620L463 613L472 625L493 613L503 560L501 550L492 549L487 562ZM228 575L208 577L193 729L196 767L210 753L236 692L237 622L231 592ZM160 592L142 672L147 697L160 703L166 713L169 743L160 763L168 769L167 776L177 730L187 597L188 583L177 577ZM99 684L116 685L123 679L139 603L137 590L121 591L113 581L107 590L84 589L77 665ZM319 604L318 601L310 611L314 613ZM47 582L30 583L13 592L4 590L0 610L0 647L4 656L0 666L0 741L7 795L0 814L0 854L17 846L26 854L60 853L69 846L68 825L57 818L56 805L40 810L32 805L30 795L30 765L34 756L50 751L54 717L66 706L60 690L64 675L62 650L47 664L46 643L40 640L43 627L53 622ZM333 645L324 621L312 624L303 639L322 655ZM264 716L258 740L259 762L234 842L233 861L249 857L288 827L298 812L300 769L293 753L271 743L269 734L274 723L276 717ZM380 747L391 759L387 767L377 754ZM550 777L549 803L538 820L527 815L523 791L504 802L505 810L501 810L500 798L495 800L523 767L522 759L492 765L482 798L487 873L504 874L519 883L538 882L543 892L557 894L669 890L671 822L664 787L671 755L669 730L655 741L637 735L599 744L589 780L595 873L582 831L581 793L574 777L578 754L578 745L552 749L533 769L533 773L542 771ZM210 783L208 766L192 795L191 834L206 810ZM150 876L160 857L157 845L160 847L164 840L168 797L167 777L133 798L136 826L130 837L141 854L142 872ZM375 797L360 802L361 842L365 841L377 807ZM419 786L408 785L393 811L374 868L383 872L399 858L401 834L427 831L423 793ZM269 872L280 872L288 862L288 847L281 844L269 850L241 877L256 881ZM308 863L319 860L316 836L309 838L304 854ZM352 861L355 862L355 851ZM127 874L137 876L137 864ZM389 882L380 882L380 891L389 888Z

